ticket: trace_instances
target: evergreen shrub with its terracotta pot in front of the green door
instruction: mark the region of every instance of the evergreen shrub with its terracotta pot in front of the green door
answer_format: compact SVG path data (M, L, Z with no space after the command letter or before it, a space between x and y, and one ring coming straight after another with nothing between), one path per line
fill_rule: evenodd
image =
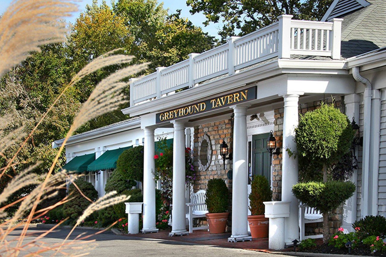
M266 177L257 175L251 183L251 193L249 194L249 210L251 215L248 216L248 224L251 228L252 238L268 237L268 218L264 216L264 203L271 201L272 191Z

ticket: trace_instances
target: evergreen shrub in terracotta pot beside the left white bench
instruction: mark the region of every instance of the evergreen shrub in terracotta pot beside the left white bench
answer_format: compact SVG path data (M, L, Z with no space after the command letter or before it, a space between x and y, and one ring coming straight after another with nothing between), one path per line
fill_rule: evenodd
M207 216L209 233L224 233L229 216L228 210L229 192L222 179L210 179L208 181L207 199L205 204L209 213Z

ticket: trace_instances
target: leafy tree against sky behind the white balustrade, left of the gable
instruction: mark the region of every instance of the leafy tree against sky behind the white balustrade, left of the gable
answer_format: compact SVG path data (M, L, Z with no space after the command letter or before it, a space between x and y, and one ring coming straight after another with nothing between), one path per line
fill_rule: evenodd
M205 15L205 26L222 22L218 32L222 42L229 36L243 36L265 27L281 14L320 20L331 3L332 0L186 0L186 5L192 8L191 14Z

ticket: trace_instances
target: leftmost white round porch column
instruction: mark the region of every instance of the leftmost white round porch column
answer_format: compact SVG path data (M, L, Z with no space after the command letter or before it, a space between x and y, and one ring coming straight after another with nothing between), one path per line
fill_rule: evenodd
M154 181L154 128L145 128L143 228L142 233L158 232L156 228L156 182Z

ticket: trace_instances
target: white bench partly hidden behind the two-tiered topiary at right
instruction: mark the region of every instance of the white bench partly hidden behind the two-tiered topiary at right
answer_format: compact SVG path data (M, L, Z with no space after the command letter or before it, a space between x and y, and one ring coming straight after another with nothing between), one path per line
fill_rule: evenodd
M323 215L320 214L315 208L299 204L299 228L300 228L300 241L306 238L322 238L323 235L309 235L305 236L305 224L322 222Z

